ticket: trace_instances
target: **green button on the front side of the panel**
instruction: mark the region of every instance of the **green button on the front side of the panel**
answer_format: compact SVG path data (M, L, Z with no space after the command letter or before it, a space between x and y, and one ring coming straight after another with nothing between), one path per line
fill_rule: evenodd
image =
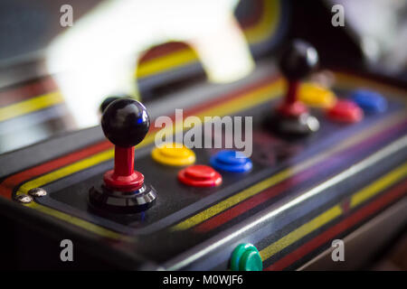
M231 258L232 271L261 271L262 269L263 261L257 247L245 243L233 250Z

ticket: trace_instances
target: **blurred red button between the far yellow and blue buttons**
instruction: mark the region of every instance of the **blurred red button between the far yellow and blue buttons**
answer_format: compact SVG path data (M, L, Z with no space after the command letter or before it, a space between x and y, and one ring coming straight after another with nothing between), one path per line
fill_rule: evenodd
M327 116L344 123L356 123L364 117L363 110L351 100L338 100L334 107L327 111Z

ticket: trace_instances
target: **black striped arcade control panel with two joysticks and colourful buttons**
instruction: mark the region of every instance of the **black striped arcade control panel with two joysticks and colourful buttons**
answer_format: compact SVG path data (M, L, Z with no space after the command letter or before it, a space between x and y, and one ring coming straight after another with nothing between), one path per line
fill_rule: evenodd
M2 266L363 267L407 226L407 87L366 71L318 70L327 51L298 37L280 46L262 59L258 44L244 79L202 81L154 101L107 95L99 126L0 154ZM141 90L152 82L139 80ZM30 101L10 107L28 111ZM0 125L13 124L6 108ZM157 126L163 116L170 126ZM337 239L343 264L330 260ZM74 262L61 261L62 240L74 245Z

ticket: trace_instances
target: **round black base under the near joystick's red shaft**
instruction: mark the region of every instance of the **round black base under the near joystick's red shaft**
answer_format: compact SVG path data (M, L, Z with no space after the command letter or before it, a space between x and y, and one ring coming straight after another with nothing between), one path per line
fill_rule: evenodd
M102 184L90 188L89 203L103 213L134 214L145 211L156 201L156 191L143 184L135 191L115 191Z

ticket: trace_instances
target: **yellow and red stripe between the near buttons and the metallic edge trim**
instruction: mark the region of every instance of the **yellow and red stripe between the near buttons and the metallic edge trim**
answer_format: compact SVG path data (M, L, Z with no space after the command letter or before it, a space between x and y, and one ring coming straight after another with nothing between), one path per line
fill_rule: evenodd
M289 169L278 172L269 179L258 182L246 190L216 203L212 207L178 223L173 229L182 230L192 228L199 224L201 225L197 227L196 230L201 232L217 228L225 222L241 215L244 211L251 210L255 206L260 205L263 201L269 200L270 198L277 196L279 193L287 191L296 184L307 180L310 177L310 174L314 175L314 173L311 172L317 173L319 170L326 170L327 167L324 167L319 163L326 161L327 158L333 154L343 154L343 150L346 148L355 150L354 145L358 143L361 143L361 145L374 144L374 141L381 140L384 135L392 133L390 127L402 119L404 119L404 121L402 121L399 126L403 127L406 124L404 113L392 117L391 120L383 122L381 126L374 126L364 133L356 135L351 140L345 141L344 144L340 144L322 154L318 154L304 163L298 163ZM306 170L308 170L308 172ZM302 174L297 174L299 172L302 172Z

